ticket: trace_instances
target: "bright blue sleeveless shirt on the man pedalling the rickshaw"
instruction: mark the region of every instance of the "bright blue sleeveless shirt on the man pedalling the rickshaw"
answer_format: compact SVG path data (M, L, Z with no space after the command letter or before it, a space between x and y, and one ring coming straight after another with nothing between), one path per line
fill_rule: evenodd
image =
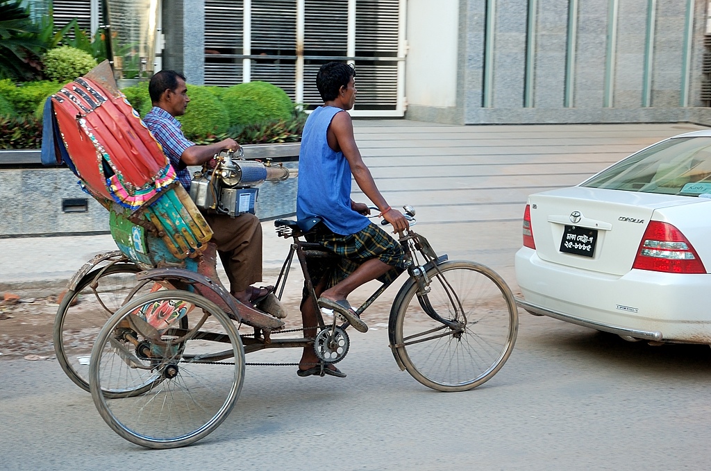
M336 234L350 235L370 220L351 210L351 166L343 152L328 146L328 126L343 109L318 107L306 119L299 152L296 217L318 216Z

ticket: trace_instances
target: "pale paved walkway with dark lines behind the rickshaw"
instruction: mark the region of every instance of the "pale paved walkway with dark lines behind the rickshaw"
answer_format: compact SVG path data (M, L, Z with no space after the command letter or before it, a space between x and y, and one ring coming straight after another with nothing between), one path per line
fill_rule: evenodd
M644 146L696 129L702 128L355 121L360 150L390 205L415 206L417 231L434 249L450 259L488 264L512 288L513 254L520 247L520 220L530 193L577 184ZM354 191L353 199L365 197ZM276 237L272 222L262 226L265 274L274 274L289 245ZM0 239L0 294L56 293L94 254L114 248L109 235Z

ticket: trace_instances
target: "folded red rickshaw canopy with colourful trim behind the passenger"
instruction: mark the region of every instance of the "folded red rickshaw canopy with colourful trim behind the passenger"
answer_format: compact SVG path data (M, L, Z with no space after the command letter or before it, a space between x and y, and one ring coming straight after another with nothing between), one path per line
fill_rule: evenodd
M48 101L43 161L61 158L92 195L136 210L175 180L160 144L116 87L107 62Z

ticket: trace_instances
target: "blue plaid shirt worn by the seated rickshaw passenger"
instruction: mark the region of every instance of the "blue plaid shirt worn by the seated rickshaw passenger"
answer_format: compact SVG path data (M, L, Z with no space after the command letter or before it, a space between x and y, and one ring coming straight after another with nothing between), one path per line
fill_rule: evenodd
M183 155L186 148L194 146L195 143L185 138L185 134L181 131L181 122L159 107L153 107L146 114L143 122L163 146L163 153L171 162L171 166L175 168L178 181L187 191L190 191L190 170L181 162L180 156Z

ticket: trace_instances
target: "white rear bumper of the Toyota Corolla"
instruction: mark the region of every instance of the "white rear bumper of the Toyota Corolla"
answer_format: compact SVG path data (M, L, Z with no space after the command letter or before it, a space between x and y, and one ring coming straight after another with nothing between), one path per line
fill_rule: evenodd
M624 337L711 344L711 275L599 274L544 261L523 247L515 271L530 312ZM525 300L525 301L524 301Z

